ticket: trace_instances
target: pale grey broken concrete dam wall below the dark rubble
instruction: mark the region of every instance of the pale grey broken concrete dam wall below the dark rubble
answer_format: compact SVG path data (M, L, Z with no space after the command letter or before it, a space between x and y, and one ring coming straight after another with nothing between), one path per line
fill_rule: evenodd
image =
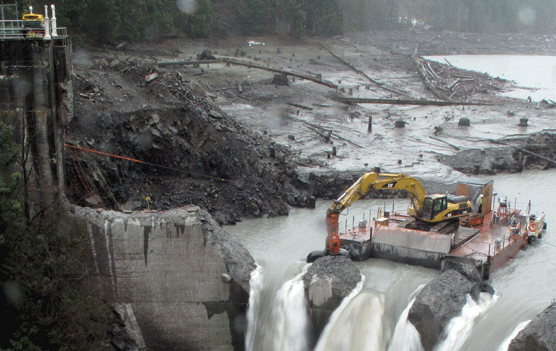
M205 211L75 215L89 222L106 297L132 309L147 349L244 349L255 263Z

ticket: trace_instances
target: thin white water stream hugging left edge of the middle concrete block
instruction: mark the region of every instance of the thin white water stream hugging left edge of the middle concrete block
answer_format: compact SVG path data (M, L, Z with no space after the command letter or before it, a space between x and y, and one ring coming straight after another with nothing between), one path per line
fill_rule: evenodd
M413 306L415 297L424 287L425 284L420 285L409 297L409 303L400 315L396 328L394 328L394 334L392 335L388 351L423 351L421 336L417 329L415 329L415 326L407 319L407 316L411 306Z

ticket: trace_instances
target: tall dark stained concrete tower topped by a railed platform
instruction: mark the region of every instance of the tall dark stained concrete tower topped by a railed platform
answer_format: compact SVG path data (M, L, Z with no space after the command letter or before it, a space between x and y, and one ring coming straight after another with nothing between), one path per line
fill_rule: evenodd
M26 174L32 216L62 194L63 130L73 114L71 40L65 28L50 40L13 28L0 33L0 120L14 127L20 147L14 171Z

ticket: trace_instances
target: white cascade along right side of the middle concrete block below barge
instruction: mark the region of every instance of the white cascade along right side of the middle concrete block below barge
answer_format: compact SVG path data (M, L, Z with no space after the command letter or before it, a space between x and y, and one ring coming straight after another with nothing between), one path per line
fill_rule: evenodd
M479 301L475 302L471 295L467 295L467 303L461 310L461 315L452 318L446 326L444 340L438 344L435 351L456 351L461 348L467 337L471 333L475 319L492 306L498 296L491 296L488 293L481 293Z

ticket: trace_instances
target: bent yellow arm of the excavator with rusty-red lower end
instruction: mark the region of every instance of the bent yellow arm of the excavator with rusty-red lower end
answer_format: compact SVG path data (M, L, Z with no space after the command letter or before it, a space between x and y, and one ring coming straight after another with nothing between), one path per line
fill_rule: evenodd
M340 213L351 206L369 189L401 189L411 194L411 207L409 214L420 216L427 193L417 179L403 173L365 173L359 178L334 204L326 211L326 251L329 254L340 252L340 236L338 234L338 219Z

